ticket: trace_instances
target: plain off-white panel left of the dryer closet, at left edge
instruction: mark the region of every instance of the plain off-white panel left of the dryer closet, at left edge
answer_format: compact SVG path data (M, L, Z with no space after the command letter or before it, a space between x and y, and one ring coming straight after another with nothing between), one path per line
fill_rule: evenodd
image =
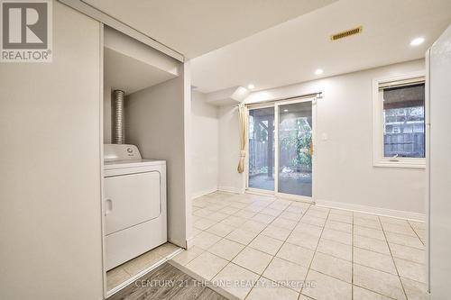
M53 2L53 61L0 67L0 299L101 299L100 24Z

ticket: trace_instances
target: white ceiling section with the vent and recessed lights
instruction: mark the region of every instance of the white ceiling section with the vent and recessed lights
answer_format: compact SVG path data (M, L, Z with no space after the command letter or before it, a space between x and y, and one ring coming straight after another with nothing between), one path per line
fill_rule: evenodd
M192 84L204 93L259 90L420 59L450 23L449 0L340 0L192 59ZM363 33L330 41L359 25ZM410 46L419 36L426 41Z

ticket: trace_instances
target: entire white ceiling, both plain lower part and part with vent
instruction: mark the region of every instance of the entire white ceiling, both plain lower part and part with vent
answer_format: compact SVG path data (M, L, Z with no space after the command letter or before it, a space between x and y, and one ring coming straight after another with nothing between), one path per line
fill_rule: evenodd
M84 0L191 59L192 85L254 90L424 58L450 0ZM363 25L339 41L330 35ZM426 41L410 46L413 38ZM320 76L315 69L322 68Z

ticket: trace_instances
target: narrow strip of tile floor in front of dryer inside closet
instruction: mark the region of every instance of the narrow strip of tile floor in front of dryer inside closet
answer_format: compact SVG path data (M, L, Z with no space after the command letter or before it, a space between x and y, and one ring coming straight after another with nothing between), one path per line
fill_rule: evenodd
M170 256L175 250L179 250L179 247L167 242L116 268L110 269L106 272L106 289L110 290L115 286L119 286L126 280L142 272L145 268L149 268L161 259Z

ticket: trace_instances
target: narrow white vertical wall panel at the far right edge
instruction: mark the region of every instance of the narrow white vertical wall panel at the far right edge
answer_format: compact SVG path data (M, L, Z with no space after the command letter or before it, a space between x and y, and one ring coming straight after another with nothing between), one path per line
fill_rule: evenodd
M430 147L429 147L429 237L431 299L451 294L451 26L434 43L429 60Z

